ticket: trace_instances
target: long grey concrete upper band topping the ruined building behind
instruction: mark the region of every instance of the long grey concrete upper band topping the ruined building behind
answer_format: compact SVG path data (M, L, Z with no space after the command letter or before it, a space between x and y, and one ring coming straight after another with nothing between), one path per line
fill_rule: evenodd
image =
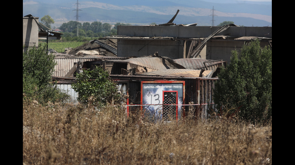
M205 38L220 26L118 26L118 35L140 37ZM272 38L272 27L229 27L218 35Z

